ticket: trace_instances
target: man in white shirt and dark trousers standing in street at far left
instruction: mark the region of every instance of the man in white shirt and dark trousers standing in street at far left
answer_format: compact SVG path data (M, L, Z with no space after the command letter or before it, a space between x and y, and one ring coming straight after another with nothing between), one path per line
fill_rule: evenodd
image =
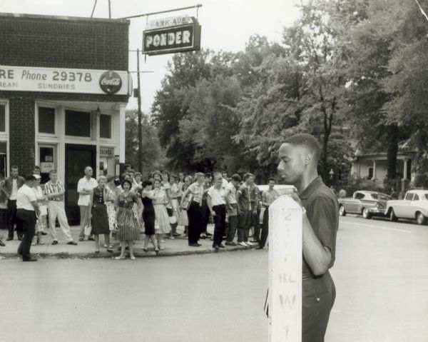
M40 214L36 192L33 190L34 183L36 183L36 178L33 175L26 176L24 185L16 193L16 217L24 229L24 236L18 247L18 254L22 256L22 261L37 261L36 258L31 257L30 253L36 216Z

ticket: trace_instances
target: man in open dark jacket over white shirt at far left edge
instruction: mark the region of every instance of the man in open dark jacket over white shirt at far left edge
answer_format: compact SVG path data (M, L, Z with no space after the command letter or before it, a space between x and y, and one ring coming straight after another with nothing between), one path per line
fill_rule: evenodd
M9 231L6 241L14 239L14 226L16 224L16 236L18 239L22 239L22 225L19 220L16 219L16 193L22 184L24 184L24 178L19 176L18 166L11 166L11 176L6 178L4 183L1 183L1 186L4 188L4 191L7 193L7 229Z

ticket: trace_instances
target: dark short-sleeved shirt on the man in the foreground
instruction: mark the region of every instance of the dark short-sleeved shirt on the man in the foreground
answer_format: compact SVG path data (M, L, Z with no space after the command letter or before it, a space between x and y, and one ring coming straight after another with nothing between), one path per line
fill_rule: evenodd
M339 204L336 195L318 176L300 193L300 199L318 240L322 246L330 248L332 260L329 268L332 268L335 263L336 235L339 228ZM310 266L303 258L302 278L313 277L315 276Z

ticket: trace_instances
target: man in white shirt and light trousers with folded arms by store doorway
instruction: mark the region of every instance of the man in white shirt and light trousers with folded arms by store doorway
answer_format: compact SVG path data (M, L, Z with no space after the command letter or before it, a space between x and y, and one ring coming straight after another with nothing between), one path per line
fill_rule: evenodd
M91 166L86 166L85 176L80 178L77 183L77 205L79 206L81 213L81 230L78 241L83 241L85 238L85 226L89 222L89 214L91 213L91 208L89 207L89 198L92 189L98 186L96 179L92 178L92 173L93 171ZM94 241L95 239L92 236L88 236L88 240Z

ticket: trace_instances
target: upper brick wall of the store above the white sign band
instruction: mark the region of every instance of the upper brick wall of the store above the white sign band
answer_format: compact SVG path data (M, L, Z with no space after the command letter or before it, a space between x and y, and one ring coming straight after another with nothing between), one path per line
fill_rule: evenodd
M0 65L128 70L129 21L0 14Z

